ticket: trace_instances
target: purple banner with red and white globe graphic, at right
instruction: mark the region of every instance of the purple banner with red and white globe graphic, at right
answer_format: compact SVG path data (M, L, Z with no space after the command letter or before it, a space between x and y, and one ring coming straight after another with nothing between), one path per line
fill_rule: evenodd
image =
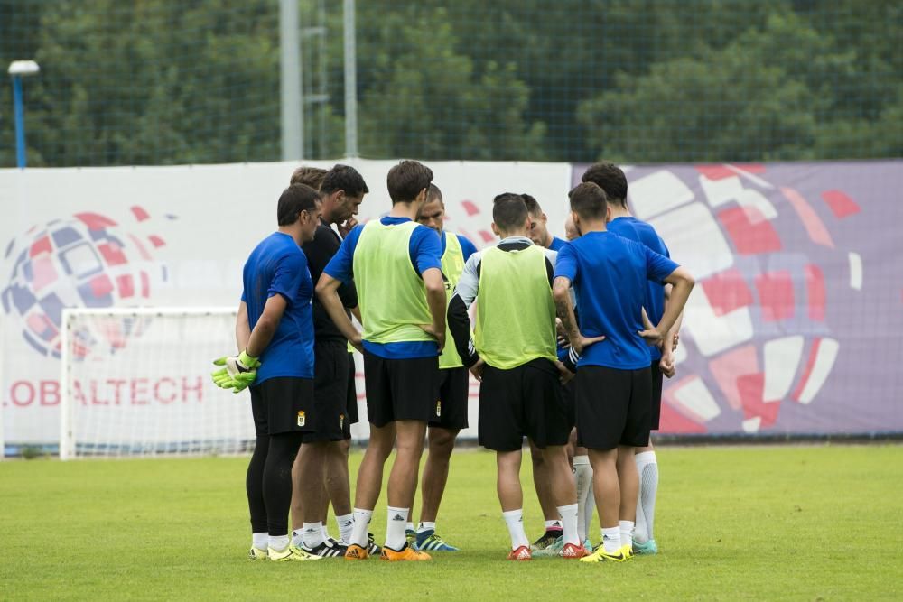
M696 278L661 432L903 431L903 162L625 171Z

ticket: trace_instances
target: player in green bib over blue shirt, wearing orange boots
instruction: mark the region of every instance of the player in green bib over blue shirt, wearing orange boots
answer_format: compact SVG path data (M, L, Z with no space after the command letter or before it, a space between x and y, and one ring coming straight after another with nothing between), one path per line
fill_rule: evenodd
M435 402L437 357L445 343L439 237L413 221L431 181L433 171L418 162L393 167L387 178L392 210L354 227L317 283L330 318L364 354L370 439L358 470L354 527L345 555L349 560L368 558L367 525L393 448L397 454L388 481L386 545L380 558L430 560L407 544L405 523ZM352 279L363 334L351 325L338 295L340 284Z

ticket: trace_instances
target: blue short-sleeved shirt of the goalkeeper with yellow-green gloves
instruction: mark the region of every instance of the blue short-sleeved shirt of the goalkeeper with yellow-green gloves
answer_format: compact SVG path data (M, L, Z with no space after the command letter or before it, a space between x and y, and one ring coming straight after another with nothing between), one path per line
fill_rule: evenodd
M253 330L266 301L279 294L286 305L282 320L260 356L255 384L269 378L313 378L313 281L307 257L292 236L274 232L257 245L245 262L241 300Z

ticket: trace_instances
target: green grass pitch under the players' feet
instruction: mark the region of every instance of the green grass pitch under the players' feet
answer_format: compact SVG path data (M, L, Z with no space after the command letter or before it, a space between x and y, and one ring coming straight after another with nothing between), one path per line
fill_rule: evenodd
M452 458L440 514L440 533L464 551L401 564L246 560L247 458L4 462L0 599L903 597L903 447L666 448L659 463L662 553L587 565L504 560L485 452ZM542 517L527 464L535 537ZM385 504L384 495L377 542Z

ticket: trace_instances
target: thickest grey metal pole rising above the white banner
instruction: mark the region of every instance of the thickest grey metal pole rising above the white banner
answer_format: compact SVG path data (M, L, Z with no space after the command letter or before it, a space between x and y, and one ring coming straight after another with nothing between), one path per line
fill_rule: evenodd
M298 0L279 0L283 161L302 159L304 153L301 40L298 27Z

